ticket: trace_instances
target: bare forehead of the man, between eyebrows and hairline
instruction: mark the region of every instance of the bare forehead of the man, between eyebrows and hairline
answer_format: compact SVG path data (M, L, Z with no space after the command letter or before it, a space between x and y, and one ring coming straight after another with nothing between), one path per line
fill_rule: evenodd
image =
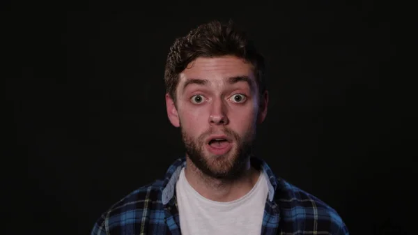
M187 68L180 73L179 83L196 78L221 82L228 77L237 76L246 76L255 82L254 69L251 63L235 56L199 57L189 63Z

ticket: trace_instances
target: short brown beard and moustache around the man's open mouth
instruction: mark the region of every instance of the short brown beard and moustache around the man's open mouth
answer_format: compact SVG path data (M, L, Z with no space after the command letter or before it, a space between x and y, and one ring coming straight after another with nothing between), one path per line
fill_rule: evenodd
M205 151L206 139L213 134L212 130L204 132L197 138L192 138L181 128L187 156L197 169L213 179L238 179L247 167L255 137L255 128L252 128L252 131L243 137L227 128L224 128L223 133L233 140L233 148L223 155L215 155Z

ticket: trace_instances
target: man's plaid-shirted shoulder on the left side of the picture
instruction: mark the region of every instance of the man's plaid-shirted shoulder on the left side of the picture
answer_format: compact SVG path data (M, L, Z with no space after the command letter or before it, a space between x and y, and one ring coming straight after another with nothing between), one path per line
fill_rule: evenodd
M164 215L161 202L162 181L154 181L134 190L102 213L91 234L123 234L129 227L140 225L144 217L157 213ZM154 218L157 220L158 218ZM164 218L162 216L162 221Z

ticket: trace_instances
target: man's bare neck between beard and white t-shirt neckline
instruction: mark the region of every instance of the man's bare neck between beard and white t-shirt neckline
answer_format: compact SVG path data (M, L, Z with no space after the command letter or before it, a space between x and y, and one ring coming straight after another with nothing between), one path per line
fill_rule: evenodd
M186 158L185 177L187 182L200 195L216 202L231 202L243 197L254 187L259 175L259 172L251 167L249 158L244 172L234 180L214 179L203 174L189 158Z

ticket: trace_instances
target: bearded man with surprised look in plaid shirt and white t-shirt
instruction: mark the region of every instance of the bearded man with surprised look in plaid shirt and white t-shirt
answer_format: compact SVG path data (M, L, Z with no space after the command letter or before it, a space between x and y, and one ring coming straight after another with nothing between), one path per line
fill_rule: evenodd
M330 206L251 154L265 119L263 56L232 22L178 38L165 68L185 158L102 214L92 234L348 234Z

